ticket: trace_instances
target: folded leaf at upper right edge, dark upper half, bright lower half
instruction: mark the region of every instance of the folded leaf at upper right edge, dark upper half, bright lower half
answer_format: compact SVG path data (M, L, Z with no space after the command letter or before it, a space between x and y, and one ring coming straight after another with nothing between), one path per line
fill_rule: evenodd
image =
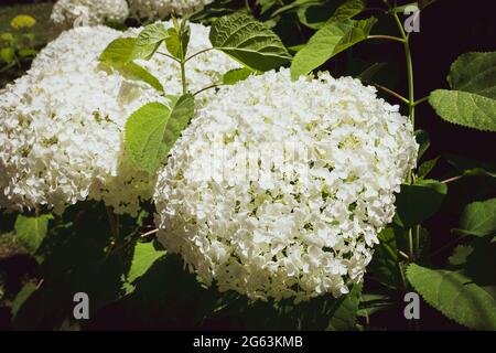
M451 90L436 89L429 103L446 121L496 131L496 52L466 53L451 66Z

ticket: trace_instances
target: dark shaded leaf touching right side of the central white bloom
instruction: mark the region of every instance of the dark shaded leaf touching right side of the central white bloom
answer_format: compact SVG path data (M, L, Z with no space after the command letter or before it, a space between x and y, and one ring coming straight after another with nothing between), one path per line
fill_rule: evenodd
M446 184L429 179L401 185L401 192L396 196L395 223L403 228L421 224L439 210L446 192Z

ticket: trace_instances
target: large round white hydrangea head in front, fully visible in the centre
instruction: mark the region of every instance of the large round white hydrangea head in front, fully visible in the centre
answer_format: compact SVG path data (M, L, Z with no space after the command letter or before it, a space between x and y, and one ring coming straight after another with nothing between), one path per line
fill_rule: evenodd
M220 291L339 297L362 281L417 151L398 106L357 79L251 76L198 111L159 172L159 239Z

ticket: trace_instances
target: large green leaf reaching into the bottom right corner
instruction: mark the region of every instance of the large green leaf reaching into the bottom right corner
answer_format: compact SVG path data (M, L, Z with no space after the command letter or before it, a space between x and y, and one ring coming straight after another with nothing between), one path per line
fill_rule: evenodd
M461 272L411 264L407 278L432 307L460 324L475 330L496 330L496 301Z

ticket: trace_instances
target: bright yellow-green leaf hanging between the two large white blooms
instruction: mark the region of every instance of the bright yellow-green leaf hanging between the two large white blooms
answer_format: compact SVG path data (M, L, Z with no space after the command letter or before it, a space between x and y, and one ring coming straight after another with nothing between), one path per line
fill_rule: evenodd
M150 103L126 122L126 151L139 170L153 173L194 115L194 97L181 96L172 109Z

